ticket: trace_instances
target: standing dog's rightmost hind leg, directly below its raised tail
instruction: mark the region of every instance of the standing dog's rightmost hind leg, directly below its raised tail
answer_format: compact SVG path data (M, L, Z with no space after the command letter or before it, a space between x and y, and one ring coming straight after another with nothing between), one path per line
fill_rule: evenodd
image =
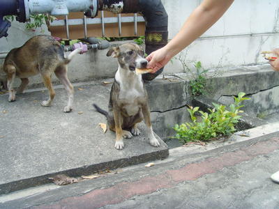
M74 88L73 85L70 84L70 81L67 77L67 66L60 65L54 71L56 77L60 80L60 82L65 87L68 94L68 105L64 107L64 112L70 112L73 109L73 100L74 100Z

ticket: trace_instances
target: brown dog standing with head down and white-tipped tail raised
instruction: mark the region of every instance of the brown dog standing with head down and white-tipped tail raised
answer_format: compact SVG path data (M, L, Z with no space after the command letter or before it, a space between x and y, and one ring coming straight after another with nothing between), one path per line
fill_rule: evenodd
M71 111L73 109L74 89L67 77L67 64L80 51L81 49L75 49L65 58L60 43L52 36L44 35L34 36L25 42L22 47L12 49L3 63L3 71L6 72L8 79L8 101L15 101L16 92L13 89L15 77L20 77L22 80L22 84L17 91L22 93L29 83L28 77L40 73L50 94L50 98L41 104L43 107L50 107L55 96L51 82L51 75L54 72L68 93L68 105L64 107L63 111Z

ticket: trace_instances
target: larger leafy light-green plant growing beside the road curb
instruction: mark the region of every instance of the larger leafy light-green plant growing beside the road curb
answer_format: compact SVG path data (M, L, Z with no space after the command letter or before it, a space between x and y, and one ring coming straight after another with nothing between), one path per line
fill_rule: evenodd
M244 98L245 93L239 93L238 97L234 97L234 103L229 105L229 109L223 104L213 103L214 108L209 109L209 113L204 111L198 111L199 107L190 107L188 112L192 123L176 124L174 130L176 135L174 138L179 139L183 143L190 141L210 141L216 137L228 136L236 131L234 125L238 123L239 113L243 105L240 103L243 100L249 100L250 98ZM199 112L201 115L201 122L197 122L195 114Z

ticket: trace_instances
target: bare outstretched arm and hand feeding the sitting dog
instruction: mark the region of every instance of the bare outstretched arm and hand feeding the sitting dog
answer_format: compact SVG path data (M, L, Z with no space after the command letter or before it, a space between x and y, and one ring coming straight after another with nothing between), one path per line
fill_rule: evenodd
M152 52L146 57L149 61L148 68L153 68L153 72L163 68L174 55L188 47L191 42L199 38L217 22L233 2L234 0L202 1L188 17L176 36L165 47Z

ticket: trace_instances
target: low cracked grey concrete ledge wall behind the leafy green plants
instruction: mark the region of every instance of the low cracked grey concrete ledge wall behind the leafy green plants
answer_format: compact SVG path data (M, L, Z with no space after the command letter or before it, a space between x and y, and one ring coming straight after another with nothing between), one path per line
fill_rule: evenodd
M165 141L174 136L175 132L172 127L176 123L190 122L186 107L187 105L194 105L190 95L189 75L179 73L174 77L179 78L175 84L169 84L168 79L160 81L163 83L158 82L156 84L157 89L160 88L159 84L168 84L165 88L160 88L160 92L149 89L151 107L156 107L152 108L153 124L156 127L156 132ZM169 89L172 86L174 86L174 89ZM278 112L278 86L279 73L272 70L270 65L248 65L224 70L222 75L209 72L206 80L207 93L205 97L213 99L212 102L218 101L227 105L234 102L233 96L238 95L241 91L245 92L251 100L243 102L245 104L243 110L246 111L243 118L246 123L252 125L248 125L249 127L255 127L266 123L261 118L269 118L270 114ZM157 100L157 95L163 95L160 96L163 100ZM180 96L183 100L179 98ZM178 103L172 104L174 101L178 101ZM160 105L161 107L157 108Z

